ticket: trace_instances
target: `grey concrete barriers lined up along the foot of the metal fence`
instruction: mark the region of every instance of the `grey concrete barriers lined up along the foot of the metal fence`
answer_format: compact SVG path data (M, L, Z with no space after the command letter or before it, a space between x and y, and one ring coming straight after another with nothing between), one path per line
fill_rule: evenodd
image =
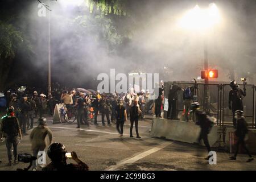
M199 137L200 130L200 127L192 122L153 118L150 135L152 137L164 137L180 142L195 143ZM222 147L225 148L226 151L229 151L229 133L233 133L234 131L235 130L232 127L213 126L208 135L210 146ZM246 144L250 152L255 153L256 130L249 130ZM234 152L234 150L232 152Z

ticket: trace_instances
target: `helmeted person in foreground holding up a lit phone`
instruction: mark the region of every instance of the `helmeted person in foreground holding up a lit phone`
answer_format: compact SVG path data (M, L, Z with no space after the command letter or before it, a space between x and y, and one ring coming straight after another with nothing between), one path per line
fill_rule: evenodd
M71 152L71 158L75 160L77 164L67 164L67 151L65 146L61 143L52 143L47 151L48 157L51 159L46 167L42 168L42 171L88 171L89 167L82 162L76 152Z

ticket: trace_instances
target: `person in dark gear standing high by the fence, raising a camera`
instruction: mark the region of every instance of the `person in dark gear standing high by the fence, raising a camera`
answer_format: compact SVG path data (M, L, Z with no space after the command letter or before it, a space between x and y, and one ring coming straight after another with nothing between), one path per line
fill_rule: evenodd
M236 110L243 111L243 97L246 96L245 84L243 85L243 90L238 87L235 80L230 81L231 90L229 92L229 109L232 110L233 114L233 126L236 128Z

